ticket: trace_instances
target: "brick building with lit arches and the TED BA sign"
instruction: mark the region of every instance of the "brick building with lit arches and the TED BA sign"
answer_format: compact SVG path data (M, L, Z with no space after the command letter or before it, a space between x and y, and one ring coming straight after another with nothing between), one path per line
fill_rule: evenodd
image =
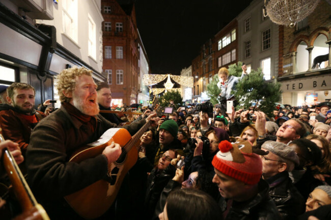
M282 83L283 103L300 106L331 98L331 5L320 1L314 12L294 28L280 26L278 81ZM316 56L328 54L321 67L313 69ZM309 97L314 97L315 101Z

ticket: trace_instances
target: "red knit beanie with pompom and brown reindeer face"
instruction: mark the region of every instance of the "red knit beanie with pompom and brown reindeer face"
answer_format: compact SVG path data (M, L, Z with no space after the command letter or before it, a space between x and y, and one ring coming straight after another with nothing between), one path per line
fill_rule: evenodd
M262 161L259 155L252 152L249 141L230 143L225 140L218 144L218 148L212 165L219 172L246 184L253 185L260 181Z

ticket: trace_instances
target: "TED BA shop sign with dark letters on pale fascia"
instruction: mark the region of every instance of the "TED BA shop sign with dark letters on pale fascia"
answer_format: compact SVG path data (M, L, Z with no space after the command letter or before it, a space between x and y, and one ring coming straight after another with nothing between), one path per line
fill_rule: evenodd
M325 90L331 89L331 76L310 77L306 79L289 80L281 82L281 90L287 91L306 91L306 90Z

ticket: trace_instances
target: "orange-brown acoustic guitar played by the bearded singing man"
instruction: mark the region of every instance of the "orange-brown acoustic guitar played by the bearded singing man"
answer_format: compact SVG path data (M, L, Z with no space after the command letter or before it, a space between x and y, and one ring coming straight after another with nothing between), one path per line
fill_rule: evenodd
M132 137L125 129L109 129L97 141L73 154L69 162L80 163L101 154L104 148L111 145L113 141L122 147L122 154L119 159L108 165L106 178L65 197L65 200L77 214L86 219L93 219L101 216L112 206L126 173L138 159L137 147L140 145L140 137L148 129L151 122L149 120Z

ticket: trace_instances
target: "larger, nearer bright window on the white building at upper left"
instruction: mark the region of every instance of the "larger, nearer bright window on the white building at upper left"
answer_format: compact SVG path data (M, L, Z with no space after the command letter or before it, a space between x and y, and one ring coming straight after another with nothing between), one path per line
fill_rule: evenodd
M72 40L78 40L78 17L77 17L77 0L64 0L62 4L63 19L62 26L63 32Z

